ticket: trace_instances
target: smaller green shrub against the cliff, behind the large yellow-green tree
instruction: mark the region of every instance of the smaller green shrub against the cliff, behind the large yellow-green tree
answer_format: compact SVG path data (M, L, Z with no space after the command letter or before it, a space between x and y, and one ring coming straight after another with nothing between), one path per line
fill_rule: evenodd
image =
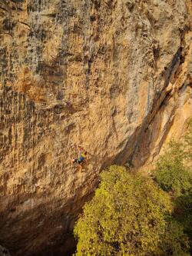
M154 176L164 191L175 198L192 190L192 118L188 121L183 141L170 141L164 155L157 161Z

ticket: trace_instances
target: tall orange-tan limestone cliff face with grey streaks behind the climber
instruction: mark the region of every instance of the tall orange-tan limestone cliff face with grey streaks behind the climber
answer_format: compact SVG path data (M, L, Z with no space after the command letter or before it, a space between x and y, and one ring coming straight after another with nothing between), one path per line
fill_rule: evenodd
M13 255L67 251L101 169L139 168L182 134L190 25L190 0L0 0L0 244Z

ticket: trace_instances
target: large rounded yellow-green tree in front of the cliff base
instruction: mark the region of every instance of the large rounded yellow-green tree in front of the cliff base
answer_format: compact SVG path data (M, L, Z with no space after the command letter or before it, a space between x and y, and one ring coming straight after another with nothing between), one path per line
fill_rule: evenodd
M76 255L161 253L158 244L171 211L169 195L151 179L130 175L123 167L111 166L101 180L74 228Z

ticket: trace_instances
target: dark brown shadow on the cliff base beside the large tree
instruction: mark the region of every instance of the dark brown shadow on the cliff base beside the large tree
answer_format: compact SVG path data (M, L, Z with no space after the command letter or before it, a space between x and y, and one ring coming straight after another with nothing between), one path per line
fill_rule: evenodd
M17 217L14 215L17 208L8 208L1 216L0 244L8 248L12 256L70 256L76 248L74 222L91 195L79 201L77 190L68 203L65 198L55 198ZM8 230L10 226L12 229Z

